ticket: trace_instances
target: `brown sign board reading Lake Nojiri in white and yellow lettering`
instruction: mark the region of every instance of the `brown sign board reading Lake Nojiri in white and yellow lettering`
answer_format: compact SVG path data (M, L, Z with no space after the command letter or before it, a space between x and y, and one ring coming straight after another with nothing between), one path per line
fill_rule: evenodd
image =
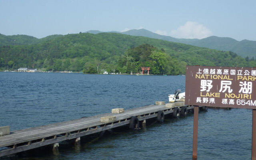
M256 109L256 68L186 66L185 104Z

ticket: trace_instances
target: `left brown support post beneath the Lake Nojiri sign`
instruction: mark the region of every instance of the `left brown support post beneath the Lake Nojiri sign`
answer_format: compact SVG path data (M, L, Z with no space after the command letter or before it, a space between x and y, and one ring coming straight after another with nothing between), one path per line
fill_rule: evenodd
M198 111L199 111L199 106L194 106L193 154L192 154L193 159L197 159Z

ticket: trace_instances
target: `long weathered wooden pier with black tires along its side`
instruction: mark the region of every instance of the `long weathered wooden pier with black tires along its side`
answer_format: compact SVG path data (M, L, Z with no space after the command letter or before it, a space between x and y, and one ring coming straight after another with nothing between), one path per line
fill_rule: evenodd
M160 105L157 105L160 104ZM154 105L124 110L123 113L106 113L91 117L80 118L35 128L16 130L9 135L0 136L0 157L15 154L25 150L38 148L52 144L58 147L59 142L74 139L80 141L80 137L119 126L128 125L130 128L138 128L139 122L149 118L164 120L164 115L187 114L194 106L185 106L184 102L168 103L156 102ZM207 109L207 108L206 108ZM113 122L101 122L102 117L114 117Z

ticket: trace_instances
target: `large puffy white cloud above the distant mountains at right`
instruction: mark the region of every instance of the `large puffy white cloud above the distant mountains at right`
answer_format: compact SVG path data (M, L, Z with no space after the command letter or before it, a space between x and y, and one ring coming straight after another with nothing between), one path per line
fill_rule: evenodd
M206 26L198 24L197 22L188 21L184 26L180 26L176 30L172 30L170 36L175 38L206 38L212 36L212 31L210 31Z

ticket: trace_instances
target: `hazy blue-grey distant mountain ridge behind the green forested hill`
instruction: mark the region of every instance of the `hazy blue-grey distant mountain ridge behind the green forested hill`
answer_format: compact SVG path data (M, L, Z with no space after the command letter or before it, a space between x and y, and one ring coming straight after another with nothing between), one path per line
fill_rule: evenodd
M99 30L89 30L87 32L92 34L102 33ZM238 41L233 38L217 37L217 36L210 36L203 39L173 38L171 36L163 36L160 34L156 34L146 29L139 29L139 30L134 29L134 30L128 30L126 32L116 32L116 31L110 31L110 32L127 34L130 36L144 36L149 38L156 38L160 40L184 43L184 44L189 44L193 46L206 47L206 48L216 49L216 50L232 51L244 58L246 56L250 58L256 57L256 41L252 41L252 40Z

